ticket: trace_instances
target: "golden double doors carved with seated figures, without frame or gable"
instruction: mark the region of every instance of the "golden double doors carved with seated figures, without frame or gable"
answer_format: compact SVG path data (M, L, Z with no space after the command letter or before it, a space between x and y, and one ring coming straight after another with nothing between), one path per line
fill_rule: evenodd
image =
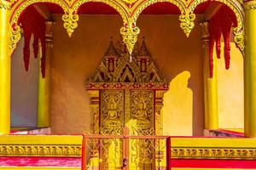
M130 135L154 135L154 90L101 90L100 133L120 135L128 127ZM123 166L123 142L103 141L102 169ZM154 169L154 141L130 139L130 169Z

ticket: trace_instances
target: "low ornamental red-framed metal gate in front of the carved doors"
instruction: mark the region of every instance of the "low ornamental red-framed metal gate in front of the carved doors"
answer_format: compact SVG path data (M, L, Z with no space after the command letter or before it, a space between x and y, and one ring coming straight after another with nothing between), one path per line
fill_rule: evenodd
M124 127L122 135L85 134L82 170L171 169L171 137L129 135ZM86 153L90 153L87 159Z

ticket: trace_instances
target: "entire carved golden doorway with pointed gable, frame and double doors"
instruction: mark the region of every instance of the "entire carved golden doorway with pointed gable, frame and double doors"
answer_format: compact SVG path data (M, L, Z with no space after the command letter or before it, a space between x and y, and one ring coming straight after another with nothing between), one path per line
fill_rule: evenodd
M89 145L93 149L90 150L89 166L94 162L101 169L122 169L124 161L129 160L127 166L130 169L163 167L162 149L166 142L156 135L162 135L160 110L167 85L144 40L141 46L137 44L137 50L131 56L123 42L111 40L86 89L94 117L92 133L109 137L90 139ZM129 133L124 132L124 127ZM118 137L113 138L113 135ZM125 135L137 138L125 142Z

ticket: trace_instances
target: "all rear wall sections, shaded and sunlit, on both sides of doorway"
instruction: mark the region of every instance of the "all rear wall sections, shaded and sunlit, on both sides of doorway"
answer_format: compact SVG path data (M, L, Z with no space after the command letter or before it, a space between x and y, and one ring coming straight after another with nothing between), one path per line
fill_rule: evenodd
M109 37L119 38L122 21L116 15L83 15L71 38L62 26L61 15L56 14L55 21L51 127L53 133L83 133L90 129L91 123L84 82L99 65ZM201 135L204 127L201 28L196 25L187 39L179 28L177 16L170 15L140 16L137 26L141 29L139 42L146 37L150 54L170 83L162 110L164 133ZM38 60L32 57L30 71L26 72L22 49L21 39L12 57L11 124L33 127L37 123ZM231 44L229 71L224 69L224 59L218 59L218 111L219 127L243 127L242 57L234 44Z

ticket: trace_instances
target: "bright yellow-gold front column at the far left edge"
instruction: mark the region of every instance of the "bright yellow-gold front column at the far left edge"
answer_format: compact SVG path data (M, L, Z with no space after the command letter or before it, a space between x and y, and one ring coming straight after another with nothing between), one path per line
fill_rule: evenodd
M0 0L0 134L10 132L10 8L8 1Z

